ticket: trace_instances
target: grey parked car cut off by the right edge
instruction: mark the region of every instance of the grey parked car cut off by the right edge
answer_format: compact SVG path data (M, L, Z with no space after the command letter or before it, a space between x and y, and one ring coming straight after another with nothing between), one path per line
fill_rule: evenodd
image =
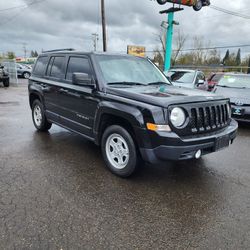
M235 120L250 122L250 75L225 74L214 92L230 98Z

